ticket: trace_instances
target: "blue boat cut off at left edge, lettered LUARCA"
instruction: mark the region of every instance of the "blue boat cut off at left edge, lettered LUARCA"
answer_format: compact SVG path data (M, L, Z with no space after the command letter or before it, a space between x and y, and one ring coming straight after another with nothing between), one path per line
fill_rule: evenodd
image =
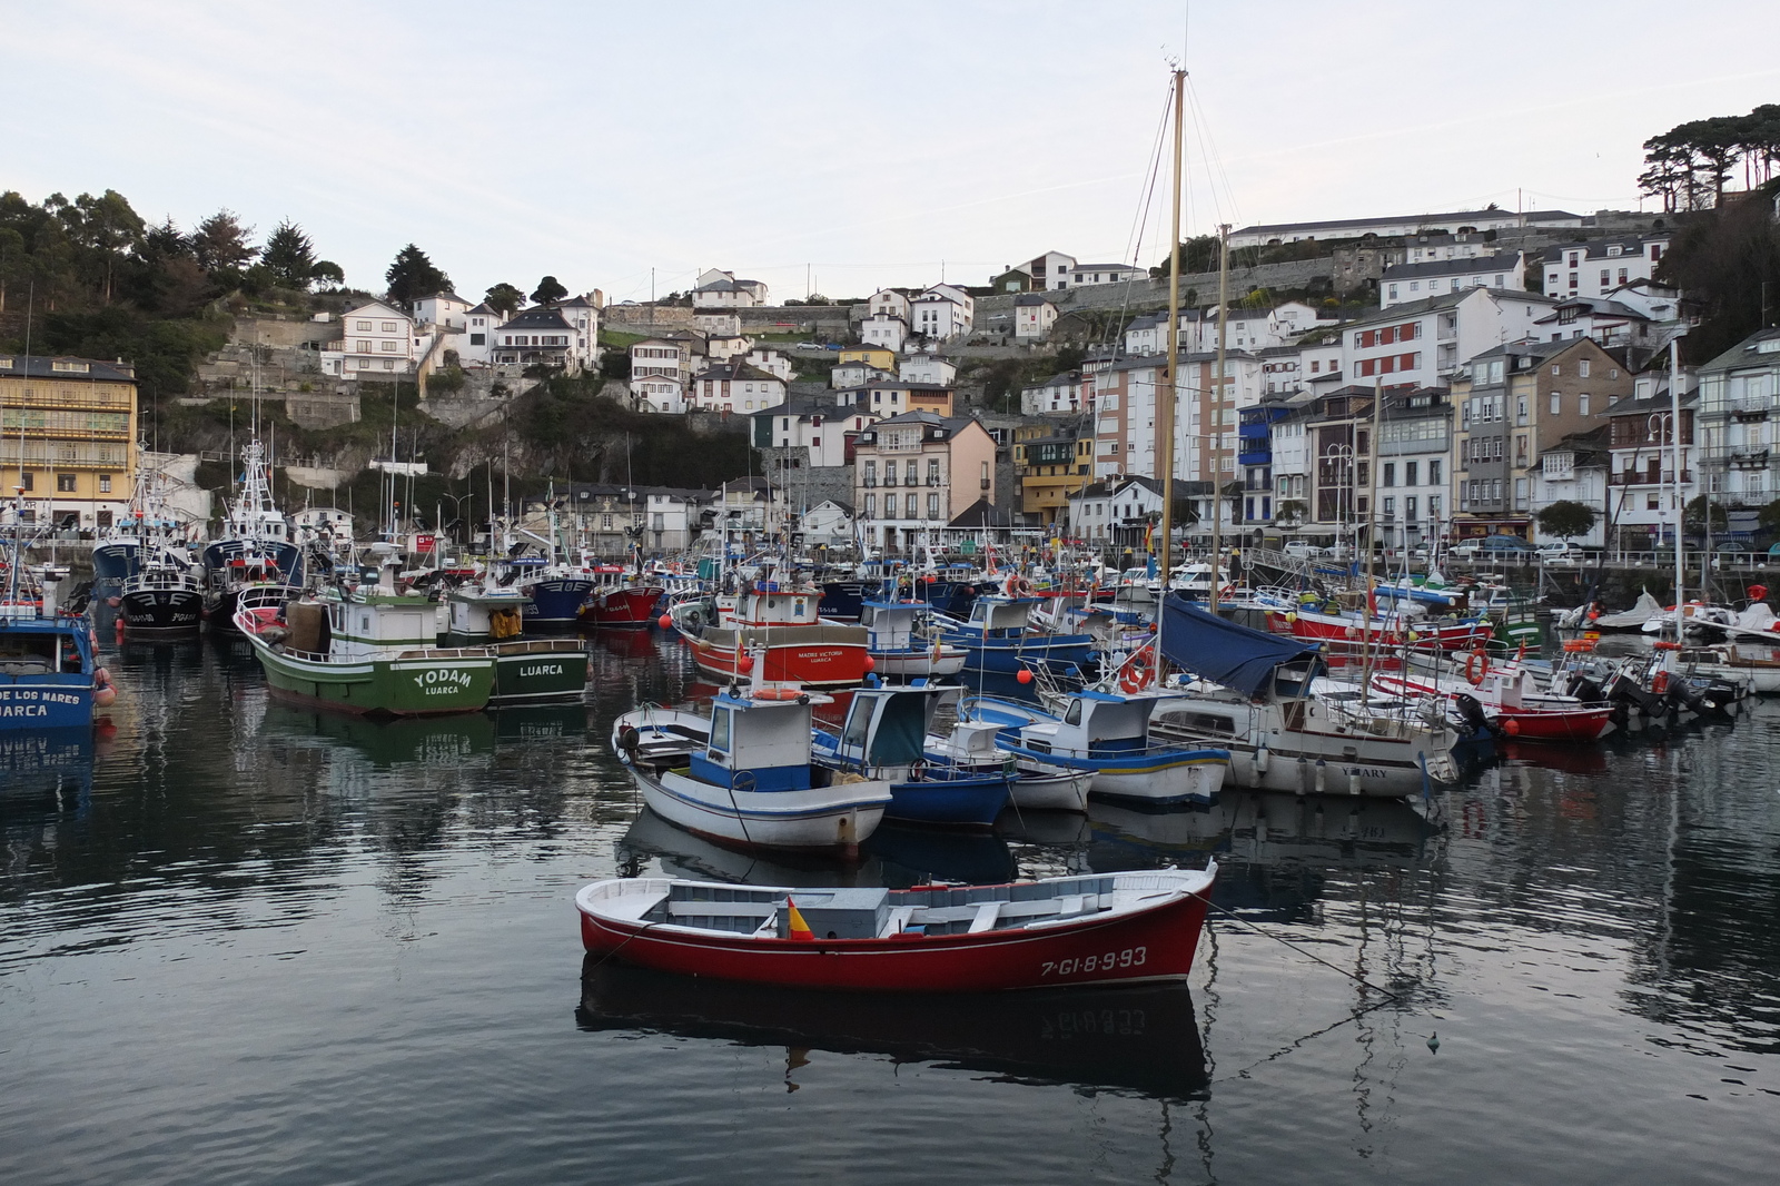
M0 730L91 728L94 705L117 693L98 666L87 614L55 604L66 573L25 565L20 518L14 504L0 552Z

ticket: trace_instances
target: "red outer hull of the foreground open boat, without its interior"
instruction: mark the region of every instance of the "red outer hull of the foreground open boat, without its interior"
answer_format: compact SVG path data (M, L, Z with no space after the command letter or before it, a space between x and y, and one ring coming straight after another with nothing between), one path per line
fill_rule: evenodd
M1002 992L1182 979L1207 898L1043 928L892 938L749 938L651 928L595 914L577 896L582 944L623 963L684 976L846 992Z

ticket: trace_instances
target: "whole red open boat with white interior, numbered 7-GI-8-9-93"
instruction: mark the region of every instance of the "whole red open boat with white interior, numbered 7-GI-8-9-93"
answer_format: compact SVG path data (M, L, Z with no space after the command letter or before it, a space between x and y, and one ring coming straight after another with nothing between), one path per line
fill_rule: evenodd
M1218 876L1157 869L1011 885L760 889L614 878L575 894L589 953L687 976L853 992L1184 979Z

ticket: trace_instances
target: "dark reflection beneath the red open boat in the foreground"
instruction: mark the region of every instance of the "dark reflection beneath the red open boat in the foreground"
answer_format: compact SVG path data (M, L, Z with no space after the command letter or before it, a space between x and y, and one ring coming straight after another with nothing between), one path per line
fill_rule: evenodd
M724 983L589 954L580 985L582 1029L783 1045L792 1090L810 1052L829 1051L1171 1101L1209 1095L1184 983L915 997Z

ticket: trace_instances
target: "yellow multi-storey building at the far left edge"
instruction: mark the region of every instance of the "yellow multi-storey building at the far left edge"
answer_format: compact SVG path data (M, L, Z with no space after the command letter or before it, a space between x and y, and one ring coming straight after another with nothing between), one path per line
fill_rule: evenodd
M135 484L135 367L0 354L0 490L27 522L110 527ZM7 511L11 516L11 511Z

